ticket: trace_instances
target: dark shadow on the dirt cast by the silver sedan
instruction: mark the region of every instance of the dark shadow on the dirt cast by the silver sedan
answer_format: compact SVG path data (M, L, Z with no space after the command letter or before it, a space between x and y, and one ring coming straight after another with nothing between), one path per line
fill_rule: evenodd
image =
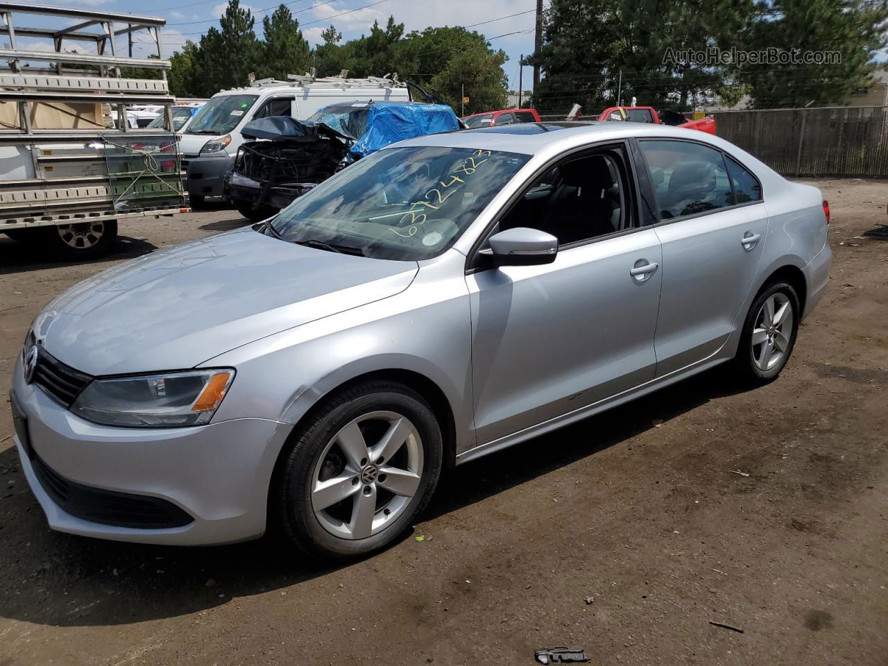
M423 520L540 477L629 440L725 395L740 392L725 373L710 370L446 472ZM22 622L95 626L188 614L228 600L286 588L337 566L298 559L271 537L229 546L158 547L63 535L45 525L27 488L14 448L0 454L0 615ZM14 480L12 490L8 480ZM405 537L406 538L406 537ZM397 547L397 543L394 544Z

